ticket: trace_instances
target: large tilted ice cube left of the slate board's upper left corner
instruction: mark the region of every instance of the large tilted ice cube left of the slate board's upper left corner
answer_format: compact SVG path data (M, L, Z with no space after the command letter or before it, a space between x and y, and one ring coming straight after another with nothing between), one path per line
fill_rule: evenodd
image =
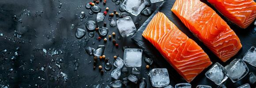
M136 32L136 26L132 22L132 18L130 16L117 20L117 28L122 37L131 36Z

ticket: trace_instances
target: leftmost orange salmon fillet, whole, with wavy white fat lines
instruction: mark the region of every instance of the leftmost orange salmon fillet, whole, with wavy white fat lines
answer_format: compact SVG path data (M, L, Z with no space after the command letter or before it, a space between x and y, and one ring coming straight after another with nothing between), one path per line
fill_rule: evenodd
M154 15L142 36L158 49L187 82L191 82L212 64L203 49L161 12Z

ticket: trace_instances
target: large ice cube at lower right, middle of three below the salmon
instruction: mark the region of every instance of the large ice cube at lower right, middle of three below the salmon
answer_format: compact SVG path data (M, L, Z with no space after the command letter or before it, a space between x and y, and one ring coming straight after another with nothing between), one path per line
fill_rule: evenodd
M241 80L248 73L249 69L241 59L234 59L230 64L225 66L228 71L230 80L234 83Z

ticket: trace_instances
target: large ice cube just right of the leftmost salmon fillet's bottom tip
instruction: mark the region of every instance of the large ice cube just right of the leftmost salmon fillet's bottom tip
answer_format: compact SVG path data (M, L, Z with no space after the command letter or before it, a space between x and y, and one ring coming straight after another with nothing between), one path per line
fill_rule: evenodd
M228 78L227 70L218 62L216 62L210 70L205 73L205 76L215 84L222 84Z

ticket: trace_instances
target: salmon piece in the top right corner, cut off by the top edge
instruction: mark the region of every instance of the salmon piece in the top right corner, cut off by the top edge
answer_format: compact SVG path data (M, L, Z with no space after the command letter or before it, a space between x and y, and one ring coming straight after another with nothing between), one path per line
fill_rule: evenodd
M222 15L245 29L256 18L256 3L253 0L207 0Z

